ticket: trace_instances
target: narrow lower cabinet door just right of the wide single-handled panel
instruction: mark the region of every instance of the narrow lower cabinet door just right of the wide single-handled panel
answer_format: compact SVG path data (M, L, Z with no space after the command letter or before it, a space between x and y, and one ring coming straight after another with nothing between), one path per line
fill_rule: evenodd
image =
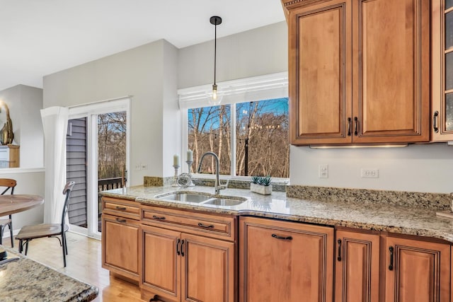
M379 234L336 231L335 301L379 302Z

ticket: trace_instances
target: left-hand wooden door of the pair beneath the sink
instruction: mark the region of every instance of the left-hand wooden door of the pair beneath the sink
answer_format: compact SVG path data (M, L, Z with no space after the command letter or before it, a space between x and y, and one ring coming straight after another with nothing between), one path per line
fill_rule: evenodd
M178 239L180 239L179 232L142 226L141 285L147 291L159 296L179 299L180 257L176 252Z

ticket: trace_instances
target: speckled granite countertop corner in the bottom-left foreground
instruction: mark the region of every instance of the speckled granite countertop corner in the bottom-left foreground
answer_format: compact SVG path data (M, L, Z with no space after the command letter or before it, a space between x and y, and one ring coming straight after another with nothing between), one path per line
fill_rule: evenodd
M0 247L8 257L18 260L0 265L0 301L91 301L98 296L95 286L57 272L18 254L15 250Z

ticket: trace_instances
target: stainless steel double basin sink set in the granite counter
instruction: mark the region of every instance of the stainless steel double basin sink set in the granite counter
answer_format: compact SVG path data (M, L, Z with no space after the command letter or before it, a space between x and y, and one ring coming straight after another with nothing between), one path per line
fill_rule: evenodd
M246 202L246 198L238 196L213 195L205 192L169 192L154 198L165 201L190 202L193 204L211 204L214 206L233 207Z

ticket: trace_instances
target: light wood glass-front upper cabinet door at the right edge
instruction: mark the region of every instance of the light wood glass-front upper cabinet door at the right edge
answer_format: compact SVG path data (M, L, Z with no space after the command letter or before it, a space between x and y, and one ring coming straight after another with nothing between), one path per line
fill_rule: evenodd
M432 140L453 141L453 0L432 2Z

